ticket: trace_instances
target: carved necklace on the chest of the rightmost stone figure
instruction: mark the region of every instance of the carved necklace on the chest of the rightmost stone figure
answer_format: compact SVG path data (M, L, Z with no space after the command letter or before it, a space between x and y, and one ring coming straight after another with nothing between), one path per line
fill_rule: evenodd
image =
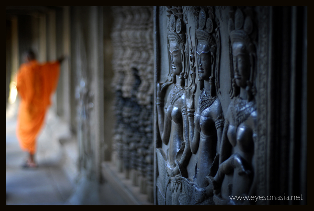
M256 110L256 103L254 100L247 102L246 100L237 97L232 101L232 105L230 110L236 127L249 118L251 113Z

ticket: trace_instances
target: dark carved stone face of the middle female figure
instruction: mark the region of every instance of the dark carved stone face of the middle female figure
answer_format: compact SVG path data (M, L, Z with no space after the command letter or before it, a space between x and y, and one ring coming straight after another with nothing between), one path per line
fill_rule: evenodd
M212 73L210 48L206 42L199 42L196 48L198 77L207 80Z

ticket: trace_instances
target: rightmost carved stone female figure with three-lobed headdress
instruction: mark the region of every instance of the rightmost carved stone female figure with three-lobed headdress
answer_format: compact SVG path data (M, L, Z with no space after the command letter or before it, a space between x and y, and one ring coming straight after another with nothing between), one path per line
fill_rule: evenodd
M249 34L253 24L240 9L235 14L235 24L229 20L234 69L234 97L231 100L224 126L219 169L214 177L216 204L239 204L229 196L246 195L252 190L254 176L254 138L256 137L256 102L253 78L255 46ZM237 90L240 89L240 92ZM229 201L229 202L228 202Z

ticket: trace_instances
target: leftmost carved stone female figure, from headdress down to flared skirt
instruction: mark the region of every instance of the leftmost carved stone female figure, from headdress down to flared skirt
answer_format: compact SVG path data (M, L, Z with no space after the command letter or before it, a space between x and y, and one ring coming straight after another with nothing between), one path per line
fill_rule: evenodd
M187 164L192 155L188 138L186 106L186 79L188 68L188 40L186 23L181 7L167 9L167 49L170 82L157 85L157 115L162 149L157 149L158 170L156 185L160 193L159 204L179 205L182 177L187 177ZM171 88L168 98L165 94Z

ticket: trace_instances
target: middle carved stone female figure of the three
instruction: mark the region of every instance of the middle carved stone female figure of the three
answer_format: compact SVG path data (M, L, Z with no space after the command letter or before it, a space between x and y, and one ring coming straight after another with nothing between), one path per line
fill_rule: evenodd
M206 24L206 13L204 9L199 12L199 24L196 30L197 38L197 64L198 78L200 87L204 87L199 98L198 108L194 113L194 94L195 90L187 94L187 115L189 119L189 140L192 153L198 152L198 161L196 168L195 186L201 189L201 195L198 196L198 202L202 202L210 196L205 192L208 182L204 178L210 174L216 153L219 152L219 143L223 128L223 113L219 98L216 95L215 87L215 69L217 58L217 45L213 31L213 21L208 18L210 24ZM202 25L203 23L203 25ZM209 32L209 33L208 33ZM194 89L196 86L194 87ZM196 129L195 129L196 128ZM215 174L214 171L212 174ZM209 188L209 192L210 192Z

